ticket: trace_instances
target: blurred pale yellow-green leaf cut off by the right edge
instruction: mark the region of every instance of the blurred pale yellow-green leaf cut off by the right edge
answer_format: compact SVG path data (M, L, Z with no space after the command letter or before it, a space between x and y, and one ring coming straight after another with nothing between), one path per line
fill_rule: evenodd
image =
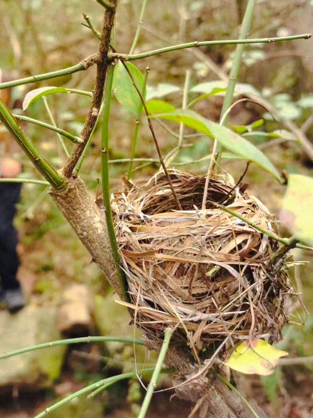
M313 245L313 178L290 174L280 220L299 240Z

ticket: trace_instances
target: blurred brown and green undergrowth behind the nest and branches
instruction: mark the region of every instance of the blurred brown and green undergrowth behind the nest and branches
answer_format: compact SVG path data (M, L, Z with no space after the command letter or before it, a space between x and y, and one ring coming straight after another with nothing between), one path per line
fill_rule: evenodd
M140 8L141 1L119 1L115 29L115 49L118 52L127 53L129 51L137 27ZM135 52L195 40L236 39L244 8L244 0L149 0ZM83 22L82 12L89 15L95 27L100 27L102 9L96 1L19 0L12 2L2 0L0 2L0 20L3 28L0 59L2 70L11 78L41 74L74 65L96 52L97 39L88 28L81 25ZM312 29L312 22L312 0L260 0L257 2L249 37L274 37L306 33ZM201 90L199 86L202 82L223 79L224 74L230 68L233 51L233 45L185 49L136 61L134 64L142 72L146 66L150 67L148 86L154 87L155 97L180 107L186 71L191 72L189 100L192 100L199 96L197 91ZM95 69L90 68L86 72L47 80L40 84L33 83L24 87L16 87L13 89L13 98L21 99L27 91L49 85L90 91L93 86L94 72ZM251 89L256 89L266 97L287 120L302 128L302 131L312 142L313 48L311 41L298 40L247 45L239 81L247 83ZM90 98L74 94L66 96L60 94L48 96L47 100L57 125L79 135L86 118ZM223 97L215 95L199 101L194 109L201 115L218 121L222 102ZM27 115L49 123L41 100L36 101L27 109ZM134 115L122 108L115 99L112 100L111 115L110 159L129 158L134 131ZM264 133L275 129L285 129L281 123L273 121L268 114L265 114L263 108L254 103L237 105L231 112L230 123L236 126L249 125L261 118L264 118L265 121L261 128ZM147 123L144 118L142 119L136 157L156 159L156 149L150 137ZM177 144L177 138L173 135L173 131L177 135L178 126L167 123L167 129L164 129L157 123L154 125L162 153L165 155ZM56 168L61 168L64 165L66 158L54 132L35 125L26 125L26 123L23 123L23 129ZM209 154L212 143L207 137L195 136L194 133L192 130L185 129L187 136L176 162L185 164L182 167L178 166L180 169L204 173L207 169L207 161L197 164L192 164L192 161ZM94 197L97 197L100 191L98 186L100 177L99 135L98 130L95 132L89 155L80 173ZM293 134L286 134L280 138L270 138L265 135L253 136L251 141L268 155L279 171L299 172L312 176L313 162L303 151L301 143ZM68 148L70 147L71 144L68 145ZM19 158L23 162L22 175L24 177L40 178L22 153L19 154ZM134 164L134 169L137 168L137 170L134 171L133 178L149 176L158 168L156 162L145 167L138 167L141 165L142 163ZM225 159L222 162L223 169L230 172L236 181L244 172L245 166L244 161ZM127 164L125 163L115 163L110 166L112 190L123 189L121 178L126 171ZM253 165L250 166L245 181L249 183L248 192L260 198L273 213L277 214L281 206L284 186L278 184L268 173ZM98 268L90 263L87 250L81 245L48 197L46 187L34 184L23 185L16 225L21 238L19 253L22 266L19 277L31 304L59 306L62 303L64 288L73 283L84 284L87 285L93 300L92 315L94 319L90 329L95 333L108 332L107 329L101 330L101 317L120 315L121 322L124 322L125 318L127 321L127 316L118 312L113 314L112 304L109 304L110 308L107 308L111 309L111 312L101 311L103 309L102 299L108 297L112 299L109 287L104 284ZM286 235L288 231L284 230L282 233ZM297 260L311 261L312 258L312 255L299 251L294 252L294 256ZM310 265L297 266L292 273L292 280L295 281L299 291L303 292L304 303L309 311L313 308L312 276L313 268ZM97 311L97 306L102 306L99 308L100 311ZM96 320L97 317L100 319ZM301 314L301 318L296 318L294 321L305 321L305 326L288 325L285 330L285 338L279 343L280 348L287 349L293 356L312 355L312 317L308 316L304 319ZM121 325L117 321L115 326L119 328ZM132 327L129 328L128 332L132 334ZM112 329L110 332L114 334ZM118 329L116 329L116 333L118 333ZM129 361L129 357L133 355L132 350L125 354L125 347L115 350L108 347L89 346L83 347L82 350L89 354L102 354L106 358L115 359L121 363ZM21 398L23 413L26 415L13 415L17 412L12 404L11 415L6 415L7 410L2 412L0 410L0 416L30 417L34 408L39 408L39 410L44 408L46 397L54 397L64 393L62 388L60 389L61 384L70 382L68 385L72 389L80 387L82 382L89 381L93 374L102 376L103 367L107 364L106 360L95 362L94 365L90 359L89 362L82 362L79 359L81 357L73 356L72 351L67 353L58 385L54 389L51 388L50 393L45 392L44 395L39 396L40 406L38 406L38 402L37 406L36 402L25 401L26 403L23 404ZM273 376L262 380L242 376L240 389L247 397L256 398L270 416L310 417L312 416L310 414L313 414L312 364L279 367ZM123 369L120 364L114 367ZM111 368L111 371L106 372L112 372L114 367ZM110 367L106 366L106 370L108 369L110 370ZM166 385L166 382L163 384ZM118 385L116 388L109 395L103 394L102 398L97 398L94 401L92 404L93 415L91 412L87 412L88 406L80 405L76 409L74 408L75 412L60 412L61 415L51 415L51 417L122 417L123 414L125 417L132 416L135 411L134 405L140 401L140 388L136 387L137 392L135 391L134 398L132 398L134 392L132 382L129 387L124 384ZM152 406L150 417L159 416L157 413L153 415L153 408L157 410L156 403ZM168 417L185 416L184 412L166 405L171 410L169 415L165 415L166 411L160 410L157 410L158 414ZM108 415L102 415L104 407L108 411L106 413ZM131 412L132 408L133 412ZM188 409L187 406L186 408ZM176 413L180 415L176 415Z

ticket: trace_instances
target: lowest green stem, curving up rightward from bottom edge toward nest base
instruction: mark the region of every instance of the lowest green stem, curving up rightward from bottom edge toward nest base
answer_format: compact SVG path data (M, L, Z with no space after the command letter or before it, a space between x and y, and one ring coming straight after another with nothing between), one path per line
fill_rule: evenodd
M146 374L149 374L149 373L151 373L152 370L153 369L144 369L142 371ZM89 386L86 386L86 388L83 388L80 391L77 391L75 393L70 394L69 396L60 400L59 402L56 402L54 405L51 405L50 407L46 408L45 411L36 415L36 417L34 417L34 418L45 417L46 414L48 414L49 412L55 411L57 408L66 404L70 400L72 400L72 399L74 399L78 396L81 396L85 393L91 392L92 390L97 389L97 388L99 388L103 385L108 385L109 386L110 384L112 385L113 383L118 382L119 380L130 379L134 376L135 376L135 372L134 371L129 371L128 373L123 373L123 374L119 374L117 376L108 377L107 379L99 380L98 382L95 382L95 383L92 383Z

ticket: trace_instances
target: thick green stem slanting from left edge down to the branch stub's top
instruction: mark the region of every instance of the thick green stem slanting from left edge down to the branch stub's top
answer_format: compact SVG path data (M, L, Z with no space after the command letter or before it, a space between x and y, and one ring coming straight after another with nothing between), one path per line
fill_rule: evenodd
M16 119L1 99L0 119L30 161L34 164L37 170L42 173L51 186L54 189L63 189L66 184L65 179L38 152L31 140L22 132Z

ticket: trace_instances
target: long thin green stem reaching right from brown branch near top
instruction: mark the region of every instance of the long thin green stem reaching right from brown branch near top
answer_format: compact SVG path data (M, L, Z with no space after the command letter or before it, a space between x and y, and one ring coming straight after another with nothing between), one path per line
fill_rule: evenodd
M255 0L253 0L255 1ZM176 51L179 49L185 48L194 48L194 47L204 47L209 45L232 45L232 44L259 44L259 43L271 43L279 41L291 41L294 39L309 39L311 38L311 33L303 33L301 35L294 36L282 36L277 38L255 38L255 39L230 39L230 40L221 40L221 41L194 41L188 42L186 44L173 45L171 47L154 49L147 52L142 52L140 54L120 54L120 53L110 53L109 58L117 58L124 61L134 61L136 59L148 58L153 55L163 54L165 52Z

